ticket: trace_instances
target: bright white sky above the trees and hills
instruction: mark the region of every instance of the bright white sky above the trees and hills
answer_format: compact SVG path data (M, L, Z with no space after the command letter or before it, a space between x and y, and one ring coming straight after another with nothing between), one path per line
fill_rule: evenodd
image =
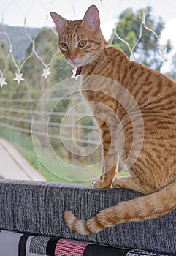
M53 26L50 11L58 12L68 20L83 18L91 4L99 8L101 27L105 39L110 38L115 21L123 10L153 7L154 18L164 20L161 44L171 39L176 52L176 0L0 0L0 23L11 26Z

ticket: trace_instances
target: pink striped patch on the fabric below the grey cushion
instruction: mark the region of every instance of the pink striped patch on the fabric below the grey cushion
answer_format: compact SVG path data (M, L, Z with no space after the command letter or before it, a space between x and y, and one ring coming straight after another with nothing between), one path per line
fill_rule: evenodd
M54 256L83 256L88 242L60 239L56 244Z

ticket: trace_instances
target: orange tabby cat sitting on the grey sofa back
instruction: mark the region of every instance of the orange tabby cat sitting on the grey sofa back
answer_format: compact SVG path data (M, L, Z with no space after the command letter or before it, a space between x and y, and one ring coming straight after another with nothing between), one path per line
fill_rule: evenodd
M129 61L116 48L105 48L94 5L83 20L69 21L55 12L51 16L61 53L78 73L82 71L83 96L102 135L102 176L93 180L93 187L122 187L146 195L104 209L88 220L78 220L65 211L66 224L74 232L92 234L172 211L176 207L175 81ZM139 154L138 144L133 145L134 128L139 131ZM131 176L116 178L117 170L126 167Z

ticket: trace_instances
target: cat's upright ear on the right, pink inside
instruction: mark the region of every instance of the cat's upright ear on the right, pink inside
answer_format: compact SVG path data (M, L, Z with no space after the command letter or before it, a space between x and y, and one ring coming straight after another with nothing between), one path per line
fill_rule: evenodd
M96 8L95 5L91 5L85 12L81 26L85 29L99 29L99 10Z

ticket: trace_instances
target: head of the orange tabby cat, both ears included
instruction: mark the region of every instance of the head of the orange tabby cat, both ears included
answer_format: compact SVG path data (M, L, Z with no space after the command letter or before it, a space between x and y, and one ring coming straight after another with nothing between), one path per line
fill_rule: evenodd
M83 67L95 61L101 54L106 40L102 35L99 10L91 5L83 20L69 21L50 13L58 32L58 47L66 61L73 67Z

